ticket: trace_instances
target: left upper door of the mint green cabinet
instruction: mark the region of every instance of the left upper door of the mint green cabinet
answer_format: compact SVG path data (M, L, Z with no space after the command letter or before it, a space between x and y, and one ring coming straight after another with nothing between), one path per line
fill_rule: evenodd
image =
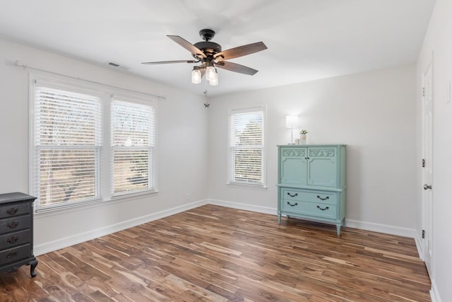
M307 148L283 148L280 156L281 184L306 185Z

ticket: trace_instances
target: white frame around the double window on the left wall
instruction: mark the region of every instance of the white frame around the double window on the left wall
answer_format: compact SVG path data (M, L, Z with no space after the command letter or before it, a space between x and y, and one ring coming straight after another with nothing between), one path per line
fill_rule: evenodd
M126 197L139 196L142 194L155 194L157 190L157 152L156 152L156 141L157 141L157 100L155 96L148 95L146 93L139 93L124 90L122 88L115 88L113 86L102 85L100 83L93 83L90 81L83 81L79 79L73 79L68 76L60 76L57 74L30 74L30 165L29 165L29 192L33 196L37 197L35 201L35 211L36 212L46 212L54 211L58 209L67 209L72 207L88 207L89 204L94 204L98 202L109 202L113 199L121 200ZM74 91L78 93L85 93L88 95L96 95L101 100L102 106L102 143L98 151L99 158L97 159L97 196L90 199L83 199L80 202L66 202L60 204L50 204L46 206L41 206L40 204L40 192L39 185L39 175L37 175L38 158L37 150L39 147L35 146L35 86L40 83L42 86L49 86L52 88L57 88L61 90ZM112 100L121 100L129 103L138 103L141 105L147 105L153 108L154 114L154 124L153 124L153 158L151 159L149 180L153 185L148 187L148 190L133 190L130 192L121 192L121 194L114 194L112 192L112 147L111 147L111 106Z

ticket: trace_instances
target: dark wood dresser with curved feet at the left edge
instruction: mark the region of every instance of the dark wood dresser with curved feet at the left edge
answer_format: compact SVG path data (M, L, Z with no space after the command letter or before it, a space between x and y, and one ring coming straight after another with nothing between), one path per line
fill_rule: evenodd
M0 271L12 272L30 265L35 277L33 255L33 202L36 197L19 192L0 194Z

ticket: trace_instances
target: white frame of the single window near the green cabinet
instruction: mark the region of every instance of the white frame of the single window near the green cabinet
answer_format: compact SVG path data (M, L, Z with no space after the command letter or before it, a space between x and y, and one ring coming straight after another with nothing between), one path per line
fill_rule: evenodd
M232 146L232 117L235 114L261 112L262 114L262 145L258 147L261 149L261 182L241 182L234 180L234 149ZM267 172L266 172L266 106L259 105L250 108L234 108L228 110L227 115L227 185L249 187L249 188L264 188L267 187ZM256 146L250 149L256 149Z

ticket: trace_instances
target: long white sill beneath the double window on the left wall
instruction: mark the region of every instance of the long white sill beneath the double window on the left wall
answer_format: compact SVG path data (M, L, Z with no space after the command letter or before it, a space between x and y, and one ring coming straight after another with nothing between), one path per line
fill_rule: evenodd
M89 202L80 202L77 204L66 204L61 207L53 207L53 208L49 208L49 209L39 209L39 210L35 209L34 217L35 217L35 219L40 219L40 218L44 218L44 217L48 217L48 216L70 213L73 211L93 209L96 207L103 207L105 205L117 204L120 202L128 202L132 199L138 199L141 197L154 196L157 193L158 193L157 190L153 190L153 191L138 192L138 193L133 193L133 194L121 194L118 196L111 197L110 199L96 199L96 200L91 200Z

